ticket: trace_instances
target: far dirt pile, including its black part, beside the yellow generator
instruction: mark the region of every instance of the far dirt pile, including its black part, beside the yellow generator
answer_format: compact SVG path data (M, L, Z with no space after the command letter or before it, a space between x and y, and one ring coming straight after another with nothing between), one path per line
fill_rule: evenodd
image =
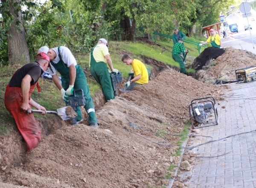
M255 65L256 55L250 51L232 47L225 49L209 47L194 60L192 67L198 70L196 73L198 80L215 83L216 80L234 81L236 69Z

